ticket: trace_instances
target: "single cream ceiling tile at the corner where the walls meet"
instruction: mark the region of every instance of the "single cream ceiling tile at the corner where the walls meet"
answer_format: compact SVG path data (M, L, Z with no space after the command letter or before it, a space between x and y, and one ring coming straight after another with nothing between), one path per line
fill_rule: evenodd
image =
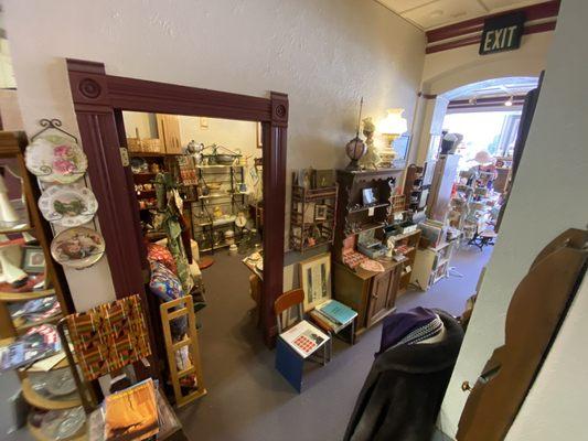
M487 14L473 0L439 0L403 14L424 29L432 29Z

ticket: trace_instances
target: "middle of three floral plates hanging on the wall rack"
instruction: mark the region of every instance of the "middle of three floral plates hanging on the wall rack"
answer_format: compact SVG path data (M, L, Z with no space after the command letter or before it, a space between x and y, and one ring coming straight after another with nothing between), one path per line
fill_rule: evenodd
M89 189L53 185L39 198L39 208L49 222L64 227L77 227L94 218L98 202Z

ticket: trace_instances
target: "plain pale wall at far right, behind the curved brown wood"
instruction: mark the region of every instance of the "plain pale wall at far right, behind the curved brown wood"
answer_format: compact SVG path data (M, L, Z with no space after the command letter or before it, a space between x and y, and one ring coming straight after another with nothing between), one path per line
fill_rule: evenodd
M587 225L588 46L578 44L586 17L584 0L562 2L523 160L441 408L441 427L449 434L467 399L461 384L473 384L494 347L503 344L506 309L533 259L562 232ZM507 440L586 438L586 295L585 283Z

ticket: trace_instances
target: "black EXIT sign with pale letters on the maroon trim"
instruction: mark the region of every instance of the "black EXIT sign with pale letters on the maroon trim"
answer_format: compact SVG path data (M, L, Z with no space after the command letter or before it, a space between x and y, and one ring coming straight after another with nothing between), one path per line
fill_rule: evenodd
M524 23L524 12L487 19L480 43L480 55L518 49L521 46Z

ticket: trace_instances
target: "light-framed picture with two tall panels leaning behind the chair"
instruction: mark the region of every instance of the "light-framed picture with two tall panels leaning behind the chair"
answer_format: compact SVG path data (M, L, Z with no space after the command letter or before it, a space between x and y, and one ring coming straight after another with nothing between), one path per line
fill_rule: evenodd
M331 299L331 254L300 262L300 287L304 291L304 311Z

